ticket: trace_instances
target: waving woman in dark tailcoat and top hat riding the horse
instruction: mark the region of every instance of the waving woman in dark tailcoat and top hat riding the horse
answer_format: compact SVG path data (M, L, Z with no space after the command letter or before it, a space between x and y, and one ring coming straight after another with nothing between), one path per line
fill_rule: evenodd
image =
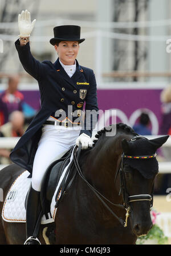
M19 14L20 34L15 42L23 68L38 81L41 100L40 111L10 154L10 159L32 176L26 200L25 244L40 244L32 234L40 212L44 172L73 145L80 143L82 149L92 147L91 135L97 116L93 119L91 111L98 111L95 74L76 60L79 44L85 40L80 38L80 27L54 27L50 44L55 47L58 59L54 63L39 62L32 56L29 44L35 21L30 21L27 10ZM84 102L86 114L83 118Z

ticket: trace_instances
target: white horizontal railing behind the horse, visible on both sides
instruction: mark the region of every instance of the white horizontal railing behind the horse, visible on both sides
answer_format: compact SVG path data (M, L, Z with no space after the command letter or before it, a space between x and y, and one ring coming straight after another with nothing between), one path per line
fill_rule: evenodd
M155 135L155 136L145 136L148 139L154 139L156 137L161 137L163 135ZM0 148L14 148L15 145L17 144L18 140L20 137L1 137L0 138ZM169 139L166 141L162 147L171 148L171 136ZM171 173L171 156L170 156L170 161L169 162L158 162L159 170L161 174L169 174ZM0 170L4 168L4 164L0 164Z

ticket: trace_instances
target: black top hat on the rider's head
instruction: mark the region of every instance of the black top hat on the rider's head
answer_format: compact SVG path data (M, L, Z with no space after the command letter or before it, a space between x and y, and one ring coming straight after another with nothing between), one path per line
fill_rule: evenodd
M54 27L54 38L51 38L50 44L55 45L59 41L78 41L79 44L85 40L80 39L80 26L64 25Z

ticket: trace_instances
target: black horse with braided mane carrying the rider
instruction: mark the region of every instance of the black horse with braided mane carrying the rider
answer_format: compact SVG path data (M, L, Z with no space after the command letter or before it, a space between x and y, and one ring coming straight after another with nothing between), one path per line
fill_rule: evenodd
M116 135L108 136L116 127ZM70 190L59 203L55 216L54 243L135 244L152 227L150 208L158 173L156 150L169 136L148 140L131 127L116 124L101 129L93 148L75 159L78 171ZM4 198L23 171L15 164L0 172ZM1 211L3 202L1 202ZM39 239L42 244L40 226ZM23 244L25 223L8 223L1 217L0 243Z

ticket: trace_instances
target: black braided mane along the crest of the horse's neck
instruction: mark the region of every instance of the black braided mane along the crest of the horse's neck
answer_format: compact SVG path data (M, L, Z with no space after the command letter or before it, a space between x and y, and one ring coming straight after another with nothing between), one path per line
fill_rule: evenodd
M99 140L99 138L101 137L101 135L103 135L105 132L109 132L110 131L110 128L111 128L111 131L112 131L112 128L115 127L116 128L116 133L119 132L119 131L123 131L127 134L131 134L133 136L136 136L138 135L134 129L132 129L131 127L129 127L127 124L123 124L123 123L117 123L117 124L111 124L109 125L108 127L104 127L102 128L100 131L97 131L97 134L95 135L96 137L96 140L93 140L93 145L96 144L96 142Z

